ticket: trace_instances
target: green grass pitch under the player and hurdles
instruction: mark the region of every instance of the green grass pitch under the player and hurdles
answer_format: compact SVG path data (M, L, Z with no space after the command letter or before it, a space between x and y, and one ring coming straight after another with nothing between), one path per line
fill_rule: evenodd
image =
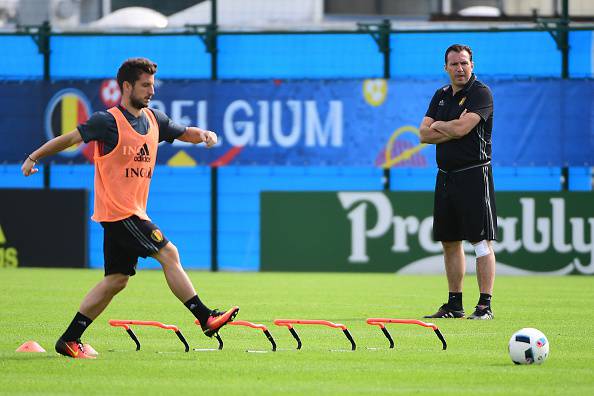
M102 277L96 270L0 269L0 394L594 394L593 277L498 277L495 320L435 320L448 349L431 329L389 325L396 347L368 317L420 319L445 299L444 276L393 274L190 272L212 308L237 304L237 319L265 324L279 351L260 331L226 327L223 351L183 352L170 331L135 327L142 350L108 319L175 324L192 348L213 348L193 317L169 292L159 271L140 271L85 333L97 360L53 352L56 338L84 294ZM465 281L472 311L476 280ZM354 352L338 329L297 326L300 351L278 318L345 324ZM507 354L514 331L536 327L550 342L542 366L515 366ZM16 353L27 340L48 353ZM369 347L380 348L369 350ZM159 353L160 352L160 353Z

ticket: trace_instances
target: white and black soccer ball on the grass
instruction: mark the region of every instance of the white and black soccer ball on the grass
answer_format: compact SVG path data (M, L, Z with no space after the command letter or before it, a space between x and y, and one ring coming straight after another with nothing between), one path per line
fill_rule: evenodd
M509 339L509 357L515 364L542 364L549 356L549 340L537 329L516 331Z

